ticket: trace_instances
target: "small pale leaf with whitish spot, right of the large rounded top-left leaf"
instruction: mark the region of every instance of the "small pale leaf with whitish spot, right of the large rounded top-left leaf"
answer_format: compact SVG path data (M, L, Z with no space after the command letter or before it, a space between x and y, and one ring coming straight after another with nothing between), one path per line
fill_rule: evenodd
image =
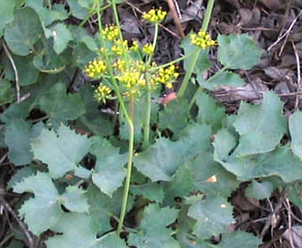
M57 54L60 54L66 47L68 47L68 42L72 40L71 33L67 26L62 23L58 23L49 29L54 39L54 49Z

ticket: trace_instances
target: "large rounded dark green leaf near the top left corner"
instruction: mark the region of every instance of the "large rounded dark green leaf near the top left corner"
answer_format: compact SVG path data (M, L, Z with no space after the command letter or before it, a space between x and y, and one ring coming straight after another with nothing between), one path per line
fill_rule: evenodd
M28 55L41 36L43 29L39 17L29 7L16 10L15 20L5 26L5 41L16 55Z

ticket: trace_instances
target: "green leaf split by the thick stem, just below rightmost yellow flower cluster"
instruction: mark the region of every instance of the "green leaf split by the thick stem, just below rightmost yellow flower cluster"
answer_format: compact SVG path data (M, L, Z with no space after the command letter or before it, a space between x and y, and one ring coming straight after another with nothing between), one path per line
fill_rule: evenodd
M203 71L212 66L211 61L208 56L208 49L200 50L199 47L195 47L191 44L191 38L185 36L182 39L181 47L184 50L184 54L187 56L183 60L183 68L185 71L191 70L192 67L192 56L195 53L199 53L195 67L193 68L193 73L197 75L202 75Z

